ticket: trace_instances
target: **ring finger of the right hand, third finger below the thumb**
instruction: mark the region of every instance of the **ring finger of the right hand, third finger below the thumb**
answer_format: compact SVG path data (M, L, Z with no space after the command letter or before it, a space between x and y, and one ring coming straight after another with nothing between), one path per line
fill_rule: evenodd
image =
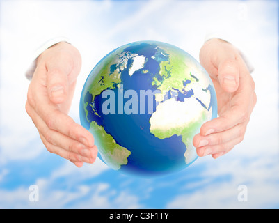
M197 154L200 157L206 156L206 155L213 155L218 154L222 155L225 153L228 153L235 145L239 144L243 140L242 137L238 137L236 139L232 139L231 141L226 142L225 144L217 144L214 146L203 146L200 148L197 148ZM217 155L216 155L217 156Z

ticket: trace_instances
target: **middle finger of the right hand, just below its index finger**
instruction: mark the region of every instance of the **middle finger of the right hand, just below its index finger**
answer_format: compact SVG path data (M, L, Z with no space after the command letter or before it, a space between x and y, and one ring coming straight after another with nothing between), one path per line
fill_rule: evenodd
M230 128L229 130L225 130L223 132L217 132L214 134L209 134L203 137L201 134L197 134L193 138L193 145L196 148L200 148L202 146L214 146L218 144L224 144L232 139L236 139L239 137L244 137L246 132L247 123L241 123L239 125Z

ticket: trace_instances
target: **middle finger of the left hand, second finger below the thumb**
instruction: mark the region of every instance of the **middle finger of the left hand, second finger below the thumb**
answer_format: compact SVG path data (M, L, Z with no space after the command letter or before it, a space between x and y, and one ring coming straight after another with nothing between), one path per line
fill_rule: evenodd
M38 131L40 132L42 137L44 137L45 141L47 141L47 143L50 145L56 146L56 151L58 151L58 148L61 148L65 151L80 155L83 162L95 162L95 159L97 157L96 146L88 148L81 144L79 141L75 141L69 137L66 137L60 132L49 129L44 121L42 121L40 116L35 113L33 108L30 107L28 103L26 103L26 111L28 112L29 116L31 116L33 123L38 128ZM79 161L81 160L79 159Z

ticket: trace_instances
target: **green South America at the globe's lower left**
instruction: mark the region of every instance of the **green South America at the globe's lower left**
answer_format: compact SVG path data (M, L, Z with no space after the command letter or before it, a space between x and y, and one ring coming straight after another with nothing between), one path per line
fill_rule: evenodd
M127 158L131 155L131 151L118 145L113 137L106 133L104 128L97 125L95 121L90 123L89 131L95 136L95 144L98 146L102 159L109 167L120 169L121 165L127 164Z

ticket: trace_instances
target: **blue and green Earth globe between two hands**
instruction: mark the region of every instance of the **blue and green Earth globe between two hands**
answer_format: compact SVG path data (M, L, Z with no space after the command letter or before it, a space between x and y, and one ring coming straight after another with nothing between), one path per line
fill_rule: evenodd
M81 125L95 137L98 157L134 176L181 171L198 155L193 137L217 114L206 70L184 50L157 41L114 49L88 75Z

